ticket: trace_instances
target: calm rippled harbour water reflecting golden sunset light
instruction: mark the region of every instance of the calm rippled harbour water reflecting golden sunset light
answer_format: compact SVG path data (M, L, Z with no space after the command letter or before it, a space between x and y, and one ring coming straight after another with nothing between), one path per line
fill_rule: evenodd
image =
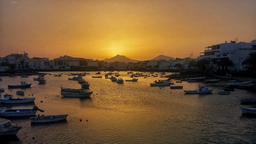
M52 72L54 74L55 72ZM63 72L65 73L65 72ZM91 72L94 75L95 72ZM57 72L55 73L57 74ZM131 79L125 72L123 79ZM29 119L15 119L23 126L17 137L1 139L10 143L253 143L256 141L256 118L241 115L240 99L255 98L255 93L235 90L230 95L185 95L170 87L150 87L159 77L139 77L138 82L117 84L110 79L83 77L94 92L90 99L62 98L60 85L80 88L68 75L46 75L39 85L34 77L2 77L0 87L16 96L19 89L7 84L32 82L25 96L32 93L36 105L45 112L69 114L67 122L31 125ZM174 81L176 81L174 79ZM183 82L184 90L196 90L199 83ZM178 83L179 85L179 83ZM12 90L12 92L11 92ZM4 93L2 93L3 96ZM43 101L40 103L40 101ZM3 107L3 105L1 105ZM12 106L12 108L31 108ZM80 122L79 120L82 120ZM88 122L86 121L88 120ZM32 137L35 137L32 139Z

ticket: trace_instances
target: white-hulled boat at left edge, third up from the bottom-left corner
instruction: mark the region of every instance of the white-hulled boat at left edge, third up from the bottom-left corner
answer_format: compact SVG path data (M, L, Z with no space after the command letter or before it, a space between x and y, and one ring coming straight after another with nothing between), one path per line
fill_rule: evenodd
M29 103L34 102L35 98L17 98L13 99L12 95L5 95L4 98L0 98L0 103L7 103L7 104L17 104L17 103Z

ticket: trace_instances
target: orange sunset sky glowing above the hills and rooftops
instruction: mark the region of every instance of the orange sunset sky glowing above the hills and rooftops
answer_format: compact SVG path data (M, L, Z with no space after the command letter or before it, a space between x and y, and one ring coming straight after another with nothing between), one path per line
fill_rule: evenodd
M256 39L255 0L0 1L0 56L196 57L235 38Z

